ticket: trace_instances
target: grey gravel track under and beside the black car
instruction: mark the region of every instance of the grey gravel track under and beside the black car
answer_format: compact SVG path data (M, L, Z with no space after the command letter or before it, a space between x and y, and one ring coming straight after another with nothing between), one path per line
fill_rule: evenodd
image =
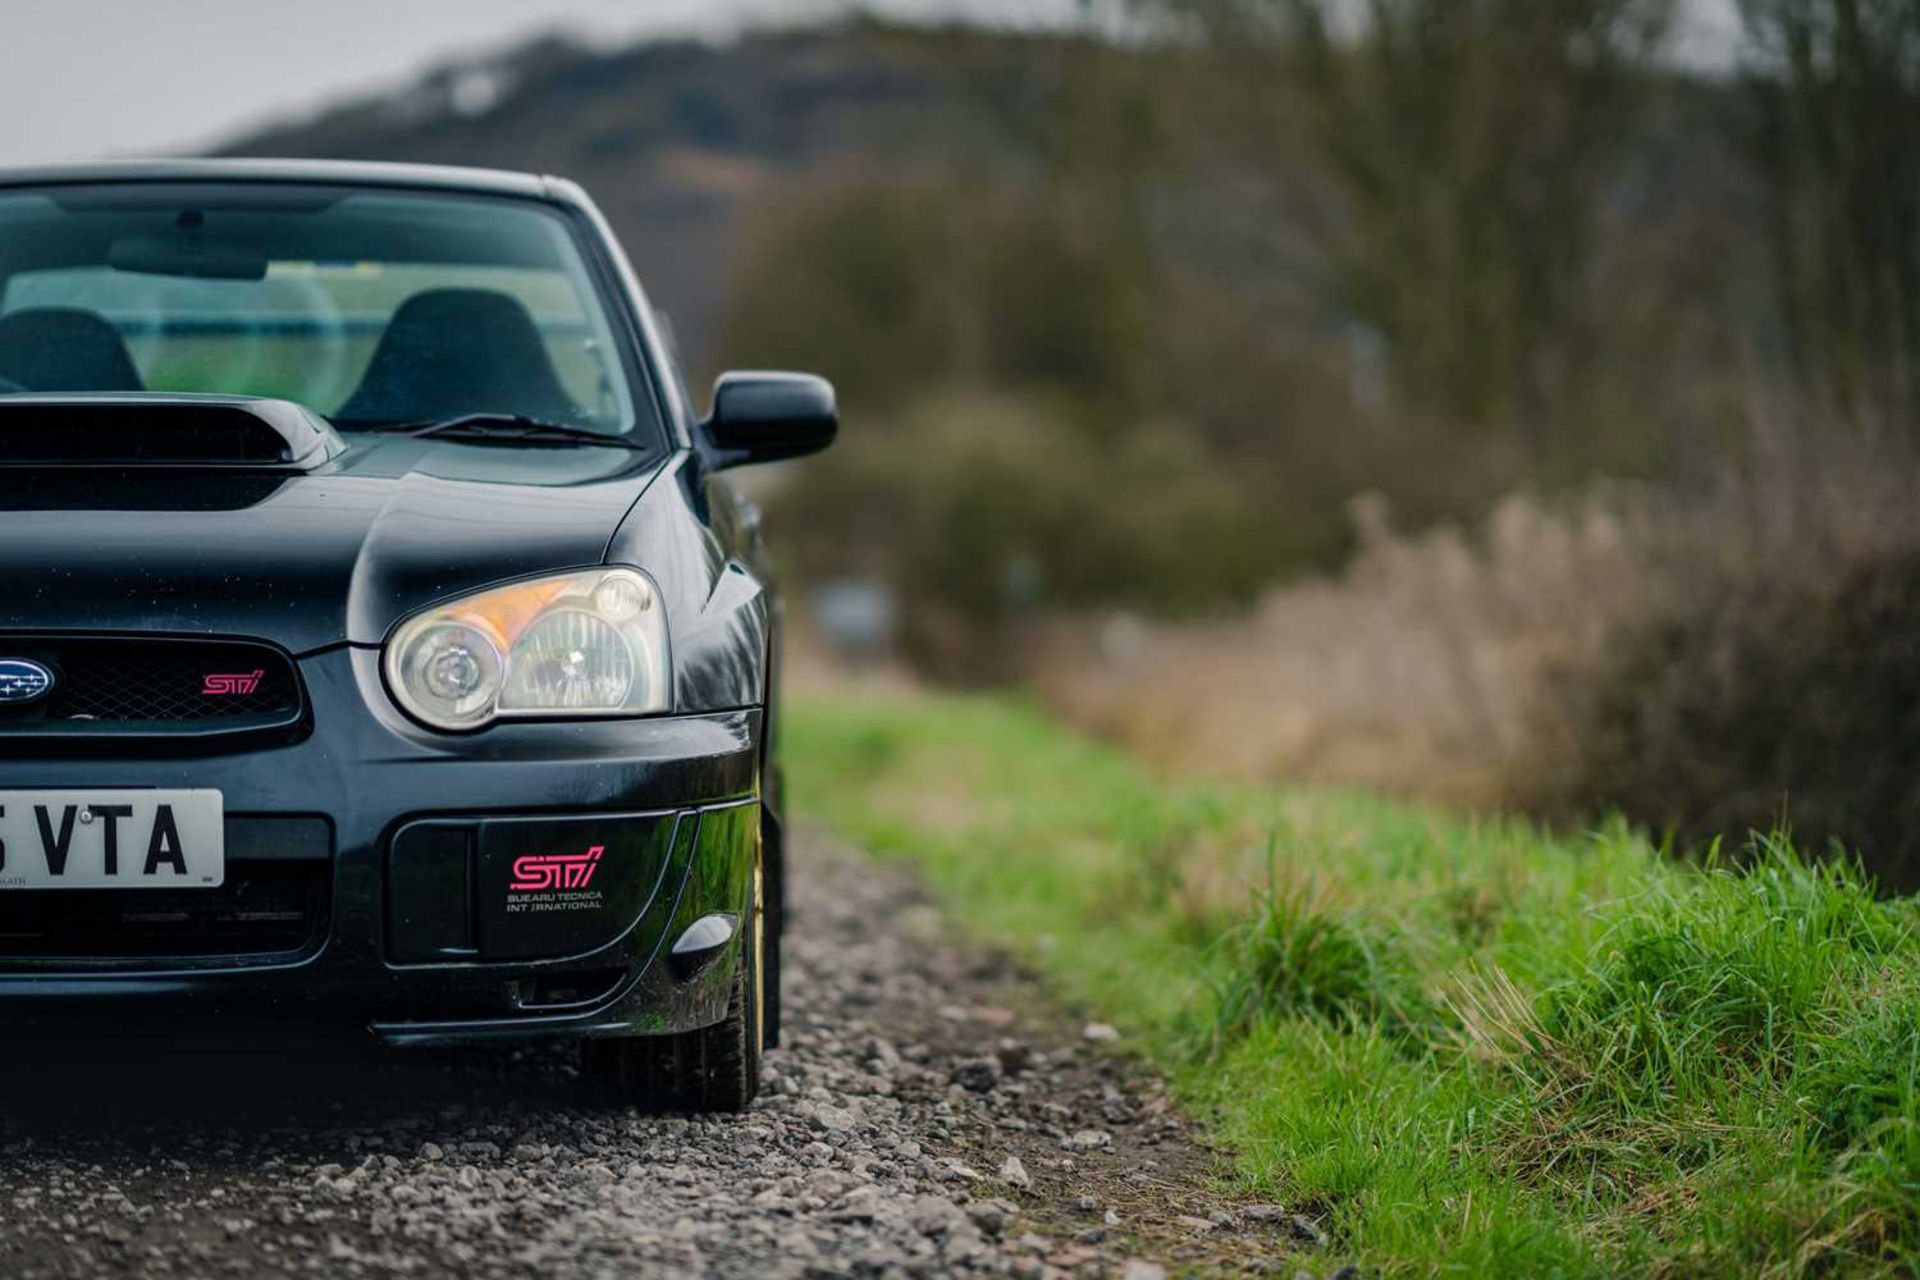
M0 1276L1313 1274L1309 1221L1229 1203L1123 1046L910 873L806 833L793 883L739 1119L582 1105L553 1050L6 1044Z

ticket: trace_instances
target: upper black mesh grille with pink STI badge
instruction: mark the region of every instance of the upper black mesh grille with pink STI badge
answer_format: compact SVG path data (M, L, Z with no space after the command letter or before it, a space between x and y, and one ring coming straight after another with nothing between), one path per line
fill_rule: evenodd
M52 668L40 702L0 708L0 735L225 733L290 725L300 676L278 649L171 637L0 637L0 656Z

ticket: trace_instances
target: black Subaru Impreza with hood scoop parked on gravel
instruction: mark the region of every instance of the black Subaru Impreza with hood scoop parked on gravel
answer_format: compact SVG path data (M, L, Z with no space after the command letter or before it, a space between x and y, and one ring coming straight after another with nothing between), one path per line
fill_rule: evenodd
M0 173L0 1017L574 1038L737 1109L780 1031L778 603L572 184Z

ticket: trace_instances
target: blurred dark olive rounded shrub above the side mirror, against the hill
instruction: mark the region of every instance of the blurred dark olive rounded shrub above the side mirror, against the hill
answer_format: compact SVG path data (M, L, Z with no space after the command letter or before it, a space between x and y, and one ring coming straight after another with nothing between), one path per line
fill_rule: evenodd
M749 238L726 347L818 368L856 411L956 386L1137 405L1154 263L1043 196L914 171L795 192Z

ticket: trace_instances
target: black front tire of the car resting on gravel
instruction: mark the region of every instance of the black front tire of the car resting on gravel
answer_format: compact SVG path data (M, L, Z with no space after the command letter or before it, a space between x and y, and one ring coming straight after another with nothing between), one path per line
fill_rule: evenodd
M582 1073L622 1100L657 1111L745 1111L760 1092L766 919L760 887L747 910L747 936L733 969L726 1021L678 1036L588 1040Z

